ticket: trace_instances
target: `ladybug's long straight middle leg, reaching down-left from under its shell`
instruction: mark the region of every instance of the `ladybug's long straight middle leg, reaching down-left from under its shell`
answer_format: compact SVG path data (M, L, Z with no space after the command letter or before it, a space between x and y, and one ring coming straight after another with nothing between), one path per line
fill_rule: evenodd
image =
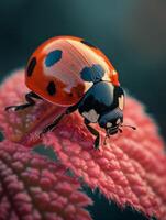
M78 109L78 103L76 103L75 106L71 106L69 108L66 109L66 111L62 114L59 114L51 124L48 124L46 128L43 129L43 131L40 133L40 136L42 136L42 134L52 131L53 129L56 128L56 125L59 123L59 121L67 114L73 113L74 111L76 111Z

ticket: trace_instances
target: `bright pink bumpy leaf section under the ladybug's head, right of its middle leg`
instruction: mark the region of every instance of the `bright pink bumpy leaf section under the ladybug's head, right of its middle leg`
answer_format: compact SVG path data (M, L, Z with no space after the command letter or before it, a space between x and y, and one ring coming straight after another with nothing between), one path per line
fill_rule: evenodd
M152 120L133 99L126 99L125 129L100 151L92 147L93 138L77 113L44 138L62 163L81 177L92 189L98 187L121 207L131 205L146 216L166 219L166 157L164 144ZM76 123L77 121L77 123ZM104 132L100 130L102 139Z

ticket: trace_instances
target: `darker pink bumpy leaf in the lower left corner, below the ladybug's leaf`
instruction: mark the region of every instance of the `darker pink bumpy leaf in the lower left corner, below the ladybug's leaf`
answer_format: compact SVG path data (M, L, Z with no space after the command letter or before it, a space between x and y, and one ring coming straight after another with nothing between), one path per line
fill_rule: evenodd
M20 144L0 143L0 220L90 220L90 199L64 167Z

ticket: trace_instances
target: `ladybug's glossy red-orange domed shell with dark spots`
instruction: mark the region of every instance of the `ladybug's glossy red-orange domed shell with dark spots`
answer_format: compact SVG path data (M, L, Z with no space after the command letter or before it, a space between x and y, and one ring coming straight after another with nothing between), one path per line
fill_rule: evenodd
M118 73L103 53L73 36L43 43L32 54L25 75L25 84L32 91L66 107L80 100L87 82L100 79L119 86Z

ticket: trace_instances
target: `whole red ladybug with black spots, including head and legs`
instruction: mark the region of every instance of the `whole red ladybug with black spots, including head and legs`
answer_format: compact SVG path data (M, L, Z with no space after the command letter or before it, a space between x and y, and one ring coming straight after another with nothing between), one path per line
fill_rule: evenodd
M57 36L38 46L27 63L25 85L31 90L25 95L27 102L5 110L23 110L34 106L35 99L66 107L41 134L53 130L64 116L76 110L96 136L95 148L99 148L100 134L90 123L103 128L106 139L122 132L124 92L118 73L99 48L82 38Z

